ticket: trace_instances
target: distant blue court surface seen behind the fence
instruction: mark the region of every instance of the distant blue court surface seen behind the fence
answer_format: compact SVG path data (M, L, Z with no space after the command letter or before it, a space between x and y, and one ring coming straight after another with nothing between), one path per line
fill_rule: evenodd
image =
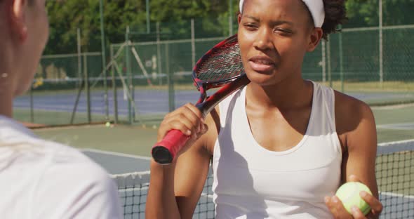
M347 93L354 98L366 102L381 101L407 101L414 100L414 93ZM34 110L53 112L72 112L76 102L76 91L71 93L35 93L33 98ZM15 99L13 107L17 109L30 109L29 95L20 96ZM122 89L116 93L119 115L128 114L128 95ZM131 97L132 98L132 97ZM175 91L175 107L185 105L187 102L196 102L199 93L193 90ZM165 114L168 112L168 91L154 89L136 89L133 93L135 100L135 112L139 114ZM114 114L114 93L108 91L109 114ZM87 112L87 98L85 92L81 93L76 112ZM105 92L102 90L91 91L91 113L105 114Z

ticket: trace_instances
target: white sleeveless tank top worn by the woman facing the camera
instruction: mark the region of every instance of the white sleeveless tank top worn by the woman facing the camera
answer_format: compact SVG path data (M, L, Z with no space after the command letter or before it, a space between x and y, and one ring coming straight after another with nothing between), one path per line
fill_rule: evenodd
M340 185L342 150L331 88L314 84L302 140L273 152L253 138L246 88L220 102L220 133L213 155L216 218L333 218L323 198Z

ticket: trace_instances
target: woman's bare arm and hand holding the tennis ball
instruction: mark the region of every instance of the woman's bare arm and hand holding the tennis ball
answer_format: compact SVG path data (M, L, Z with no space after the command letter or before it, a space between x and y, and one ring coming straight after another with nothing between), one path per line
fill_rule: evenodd
M373 211L370 218L378 218L382 204L378 201L378 185L375 178L377 133L375 119L370 107L342 93L335 93L335 121L342 145L342 183L360 181L367 185L373 195L362 197ZM366 218L356 210L349 215L338 197L326 199L335 218Z

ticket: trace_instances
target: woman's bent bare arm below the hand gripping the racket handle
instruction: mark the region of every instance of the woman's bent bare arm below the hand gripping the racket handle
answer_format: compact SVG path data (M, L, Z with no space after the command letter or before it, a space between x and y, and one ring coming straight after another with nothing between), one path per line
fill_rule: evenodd
M205 123L215 127L210 115ZM217 137L214 128L210 129L194 143L189 142L191 146L185 147L173 164L161 166L151 161L146 218L192 218L208 175L211 154L207 143Z

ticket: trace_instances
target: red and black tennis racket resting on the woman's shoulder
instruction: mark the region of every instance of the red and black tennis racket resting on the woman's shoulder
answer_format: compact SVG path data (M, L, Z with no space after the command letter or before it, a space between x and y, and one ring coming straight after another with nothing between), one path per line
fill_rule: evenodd
M204 54L196 63L192 77L194 85L200 91L196 107L203 117L206 117L221 100L248 84L250 81L241 64L237 35L221 41ZM207 96L209 89L219 87L220 90ZM189 138L181 131L168 131L163 140L152 147L152 157L159 164L171 164Z

